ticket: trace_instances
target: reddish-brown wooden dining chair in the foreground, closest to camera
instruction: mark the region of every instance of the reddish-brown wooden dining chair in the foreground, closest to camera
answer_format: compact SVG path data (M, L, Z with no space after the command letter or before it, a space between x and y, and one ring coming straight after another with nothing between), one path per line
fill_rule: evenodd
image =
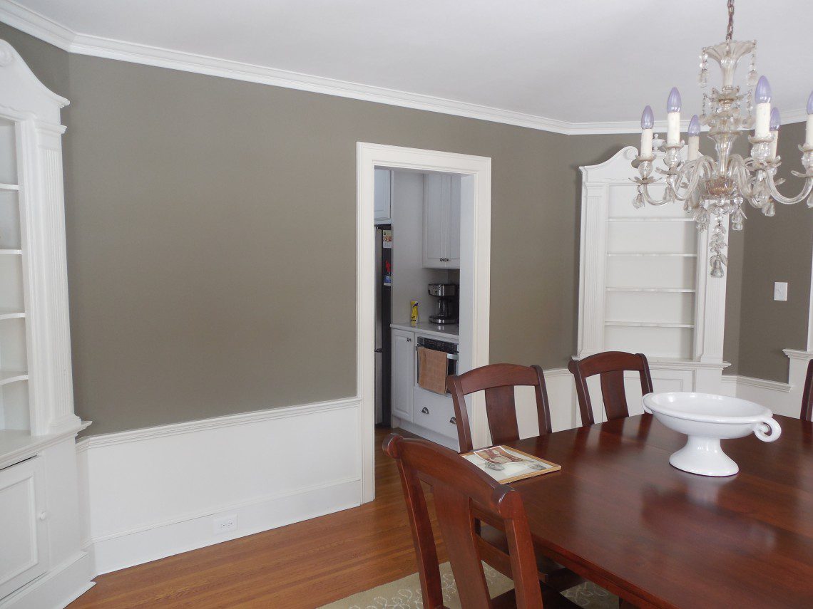
M385 440L384 450L398 461L418 558L424 607L443 607L443 593L437 547L422 481L432 488L437 521L454 579L458 583L462 607L576 607L537 579L528 518L516 490L495 482L476 465L435 443L390 434ZM502 521L510 548L515 588L493 599L489 596L480 559L481 542L474 526L474 506L479 512Z

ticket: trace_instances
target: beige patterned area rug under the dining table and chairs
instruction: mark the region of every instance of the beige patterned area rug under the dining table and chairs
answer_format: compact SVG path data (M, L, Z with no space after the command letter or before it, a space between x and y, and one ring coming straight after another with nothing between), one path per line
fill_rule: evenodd
M514 587L514 582L483 564L485 581L489 585L492 598ZM457 586L449 563L441 564L441 588L443 604L450 609L461 609ZM610 594L598 585L586 582L577 585L563 594L573 603L585 609L618 609L618 597ZM423 609L424 602L420 596L420 579L417 573L390 581L389 584L359 592L340 601L320 607L320 609Z

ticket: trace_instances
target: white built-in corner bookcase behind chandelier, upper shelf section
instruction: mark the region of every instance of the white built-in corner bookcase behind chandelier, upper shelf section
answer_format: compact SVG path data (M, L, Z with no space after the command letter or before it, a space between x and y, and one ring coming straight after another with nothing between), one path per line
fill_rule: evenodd
M679 371L680 387L669 388L719 391L725 279L709 276L708 233L683 204L633 206L636 154L629 146L580 168L577 356L642 352L654 378ZM660 197L663 186L650 191Z

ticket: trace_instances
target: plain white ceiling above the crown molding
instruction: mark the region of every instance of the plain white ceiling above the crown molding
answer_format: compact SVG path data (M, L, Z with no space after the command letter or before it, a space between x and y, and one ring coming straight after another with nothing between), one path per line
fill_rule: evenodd
M85 35L71 49L77 52L95 54L88 37L99 37L564 123L637 122L647 103L663 119L672 86L687 117L699 112L698 52L723 40L728 19L724 0L0 0L3 6ZM786 119L789 110L802 118L813 89L811 24L811 0L737 2L735 38L759 41L757 70ZM712 68L711 84L718 79Z

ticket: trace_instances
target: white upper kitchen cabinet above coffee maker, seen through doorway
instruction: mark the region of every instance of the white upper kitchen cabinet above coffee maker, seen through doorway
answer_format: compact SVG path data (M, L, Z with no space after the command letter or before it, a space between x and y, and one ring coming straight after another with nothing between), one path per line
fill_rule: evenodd
M460 268L460 178L424 178L424 266Z

